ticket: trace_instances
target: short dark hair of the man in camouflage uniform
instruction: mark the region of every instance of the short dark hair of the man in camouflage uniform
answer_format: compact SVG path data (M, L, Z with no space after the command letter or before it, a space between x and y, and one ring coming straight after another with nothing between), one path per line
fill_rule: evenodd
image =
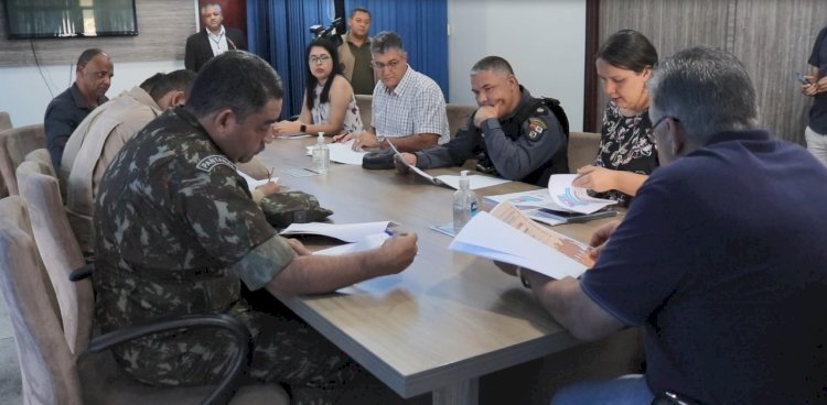
M197 118L229 108L244 121L270 100L283 97L281 78L265 59L245 51L227 51L201 68L184 108Z

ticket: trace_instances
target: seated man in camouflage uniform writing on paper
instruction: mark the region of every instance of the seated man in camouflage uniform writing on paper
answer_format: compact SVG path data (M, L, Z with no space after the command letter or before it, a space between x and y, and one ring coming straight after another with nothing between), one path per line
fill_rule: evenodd
M276 234L235 164L272 140L282 96L266 62L227 52L202 68L184 107L123 146L95 207L96 313L104 331L185 314L232 315L253 332L249 379L289 385L294 404L329 404L358 365L309 326L251 309L241 282L281 295L334 291L402 271L416 234L337 258L314 256ZM194 385L215 382L235 349L224 332L186 330L114 352L140 381Z

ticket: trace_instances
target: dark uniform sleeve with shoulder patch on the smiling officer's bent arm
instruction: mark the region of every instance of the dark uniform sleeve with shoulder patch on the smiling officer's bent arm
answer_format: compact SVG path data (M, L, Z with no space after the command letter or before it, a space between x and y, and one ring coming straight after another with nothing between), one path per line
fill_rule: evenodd
M506 136L500 121L485 120L482 124L485 150L503 178L519 180L540 167L565 145L562 128L546 106L536 108L520 123L519 136Z

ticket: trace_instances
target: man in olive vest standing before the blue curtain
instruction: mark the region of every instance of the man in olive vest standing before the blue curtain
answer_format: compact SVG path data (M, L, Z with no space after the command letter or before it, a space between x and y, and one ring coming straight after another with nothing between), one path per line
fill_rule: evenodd
M353 86L355 95L372 95L379 75L370 66L370 12L363 7L351 11L347 19L348 31L342 34L339 58L342 61L345 78Z

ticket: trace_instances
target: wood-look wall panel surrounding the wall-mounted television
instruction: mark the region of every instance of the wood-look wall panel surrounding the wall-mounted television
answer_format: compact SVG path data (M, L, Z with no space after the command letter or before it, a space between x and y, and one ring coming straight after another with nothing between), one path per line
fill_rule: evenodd
M62 40L9 40L6 3L0 0L0 67L74 64L89 47L100 47L118 62L182 61L186 37L195 32L192 0L136 0L137 36Z

